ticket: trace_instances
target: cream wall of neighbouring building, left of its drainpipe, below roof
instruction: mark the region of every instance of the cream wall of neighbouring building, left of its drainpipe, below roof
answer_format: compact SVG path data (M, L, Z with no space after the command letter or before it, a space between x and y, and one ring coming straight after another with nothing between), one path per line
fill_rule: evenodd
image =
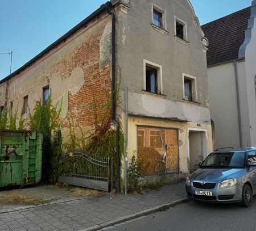
M234 64L208 68L210 115L215 124L214 148L240 146Z

